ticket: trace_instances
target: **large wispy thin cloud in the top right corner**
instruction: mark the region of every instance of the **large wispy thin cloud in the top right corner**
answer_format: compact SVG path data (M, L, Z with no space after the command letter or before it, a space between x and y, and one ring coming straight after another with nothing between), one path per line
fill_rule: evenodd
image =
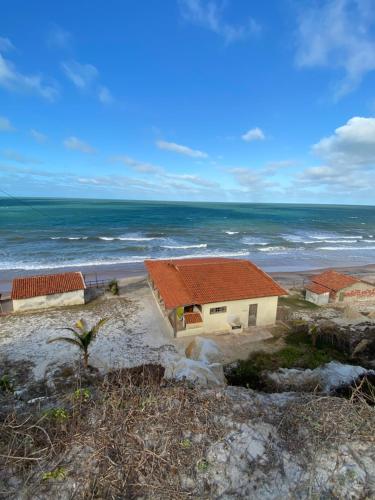
M374 21L374 4L368 0L325 0L304 6L298 25L297 65L343 71L336 98L355 90L375 70Z

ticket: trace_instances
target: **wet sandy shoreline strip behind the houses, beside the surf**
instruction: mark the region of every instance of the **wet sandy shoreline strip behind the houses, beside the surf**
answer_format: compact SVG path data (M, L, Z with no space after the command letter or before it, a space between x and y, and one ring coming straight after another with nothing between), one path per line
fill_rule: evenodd
M283 271L275 270L272 262L269 266L260 266L264 271L266 271L274 280L279 282L286 288L302 287L309 277L313 274L318 274L320 272L326 271L327 269L335 269L336 271L343 272L346 274L353 275L358 278L365 278L373 283L375 283L375 263L374 264L364 264L358 266L330 266L330 267L316 267L312 269L302 269L302 270L288 270ZM272 270L267 270L267 267ZM135 277L145 277L146 268L143 262L137 263L127 263L127 264L108 264L101 266L82 266L77 267L61 267L58 269L38 269L38 270L0 270L0 294L8 294L11 290L12 280L20 276L37 276L43 274L55 274L67 271L80 271L84 275L86 281L95 280L111 280L117 279L122 280L126 278Z

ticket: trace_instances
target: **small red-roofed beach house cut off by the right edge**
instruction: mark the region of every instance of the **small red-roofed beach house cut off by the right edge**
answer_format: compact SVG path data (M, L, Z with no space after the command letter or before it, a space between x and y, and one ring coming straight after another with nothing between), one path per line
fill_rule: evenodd
M336 271L325 271L311 277L305 287L305 299L317 305L375 300L375 285Z

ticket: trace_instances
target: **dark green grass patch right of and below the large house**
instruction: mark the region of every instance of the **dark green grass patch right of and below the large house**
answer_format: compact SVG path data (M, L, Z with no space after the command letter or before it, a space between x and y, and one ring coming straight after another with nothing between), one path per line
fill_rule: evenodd
M319 342L314 347L311 338L301 329L286 335L285 342L286 346L279 351L257 352L246 360L240 360L236 368L226 374L228 383L267 390L261 375L263 371L276 371L279 368L314 369L330 361L348 362L348 356L332 347Z

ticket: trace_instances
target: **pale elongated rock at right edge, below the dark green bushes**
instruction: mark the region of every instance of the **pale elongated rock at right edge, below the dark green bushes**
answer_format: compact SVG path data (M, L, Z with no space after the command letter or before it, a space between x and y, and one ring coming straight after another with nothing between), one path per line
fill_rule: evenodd
M319 387L328 394L365 374L375 374L375 371L331 361L315 370L280 368L276 372L266 372L264 376L277 390L311 391Z

